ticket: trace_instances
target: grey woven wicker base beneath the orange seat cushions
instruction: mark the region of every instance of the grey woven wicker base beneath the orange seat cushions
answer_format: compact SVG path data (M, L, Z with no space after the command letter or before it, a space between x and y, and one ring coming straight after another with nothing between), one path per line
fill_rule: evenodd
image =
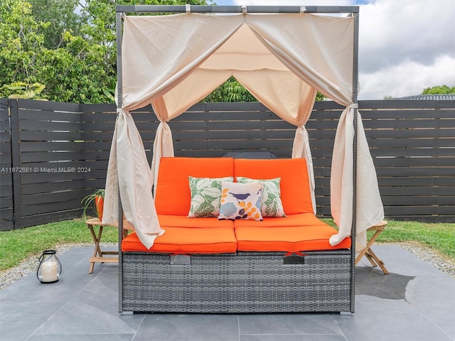
M192 255L186 265L171 265L166 254L124 252L119 308L175 313L348 312L350 261L349 250L311 251L290 258L277 252L238 252Z

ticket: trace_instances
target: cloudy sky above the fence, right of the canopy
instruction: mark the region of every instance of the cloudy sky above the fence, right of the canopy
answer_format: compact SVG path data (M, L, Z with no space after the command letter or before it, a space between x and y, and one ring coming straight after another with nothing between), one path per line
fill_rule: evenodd
M359 99L455 86L455 0L215 0L218 5L359 5Z

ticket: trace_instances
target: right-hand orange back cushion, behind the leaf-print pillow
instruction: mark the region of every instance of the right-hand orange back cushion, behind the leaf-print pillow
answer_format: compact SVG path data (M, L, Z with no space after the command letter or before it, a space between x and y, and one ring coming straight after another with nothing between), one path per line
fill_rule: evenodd
M272 160L234 159L234 176L252 179L281 178L280 190L286 215L313 212L308 171L304 158Z

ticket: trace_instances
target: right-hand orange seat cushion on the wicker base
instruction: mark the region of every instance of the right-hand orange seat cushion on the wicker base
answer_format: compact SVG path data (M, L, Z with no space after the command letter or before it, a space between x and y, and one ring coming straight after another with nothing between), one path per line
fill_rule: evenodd
M299 215L301 216L301 215ZM296 217L297 218L297 217ZM286 220L287 218L269 218L269 220ZM316 218L317 220L317 218ZM292 220L295 222L296 220ZM336 234L333 227L324 222L311 223L310 220L301 220L301 224L287 226L270 222L269 226L259 226L256 222L235 222L238 251L319 251L334 249L349 249L350 238L332 247L328 239Z

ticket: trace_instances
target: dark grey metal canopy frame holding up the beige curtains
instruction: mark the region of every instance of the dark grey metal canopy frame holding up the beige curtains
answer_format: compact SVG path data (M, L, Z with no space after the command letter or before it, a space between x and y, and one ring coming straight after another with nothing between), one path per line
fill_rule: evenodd
M117 5L117 105L122 107L122 18L125 13L348 13L354 17L353 37L353 103L358 97L358 37L359 37L359 6L211 6L211 5ZM357 205L357 114L354 109L354 139L353 139L353 222L351 226L351 259L350 259L350 313L355 311L355 230ZM119 240L123 237L122 201L119 194ZM122 295L122 245L119 243L119 293ZM119 311L122 311L122 301L119 300Z

